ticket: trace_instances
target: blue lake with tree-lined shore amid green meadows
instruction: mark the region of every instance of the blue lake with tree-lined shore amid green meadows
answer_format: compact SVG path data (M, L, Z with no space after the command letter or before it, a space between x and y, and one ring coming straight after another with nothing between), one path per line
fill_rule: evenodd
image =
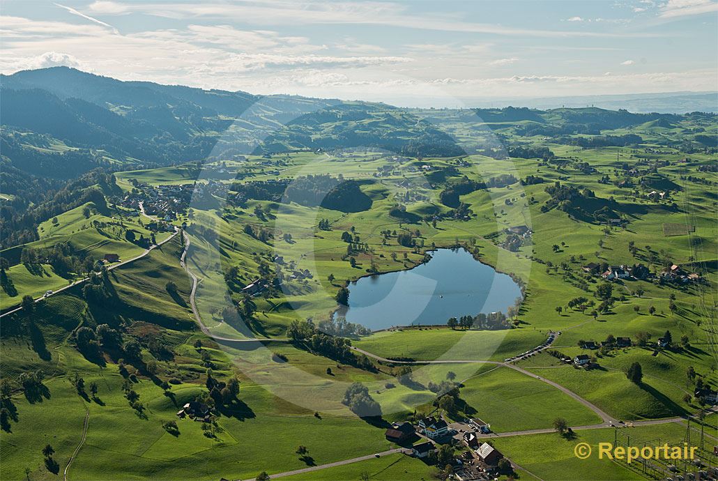
M344 316L370 330L411 324L446 324L449 317L506 312L521 288L463 249L438 249L409 271L368 276L350 283Z

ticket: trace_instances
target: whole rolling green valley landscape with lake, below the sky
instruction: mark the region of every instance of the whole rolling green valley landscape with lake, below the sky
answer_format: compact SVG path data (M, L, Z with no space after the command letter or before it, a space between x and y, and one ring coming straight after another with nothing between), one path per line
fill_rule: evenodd
M429 479L475 455L471 419L510 460L486 477L670 472L574 457L618 436L700 439L716 466L714 114L147 100L37 72L3 85L57 116L2 113L23 173L0 199L0 477ZM157 121L121 113L141 98L174 135L118 140ZM60 129L98 109L112 152Z

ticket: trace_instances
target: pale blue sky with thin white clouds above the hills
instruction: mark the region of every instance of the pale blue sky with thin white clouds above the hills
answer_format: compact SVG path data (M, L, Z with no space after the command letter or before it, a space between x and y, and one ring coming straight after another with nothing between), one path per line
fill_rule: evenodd
M0 1L0 72L400 106L718 90L718 0Z

